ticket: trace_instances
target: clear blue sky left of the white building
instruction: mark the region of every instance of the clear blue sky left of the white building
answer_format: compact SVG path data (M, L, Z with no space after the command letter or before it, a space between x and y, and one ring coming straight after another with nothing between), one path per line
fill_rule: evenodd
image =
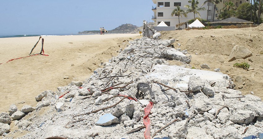
M0 35L76 34L152 22L152 0L1 0Z

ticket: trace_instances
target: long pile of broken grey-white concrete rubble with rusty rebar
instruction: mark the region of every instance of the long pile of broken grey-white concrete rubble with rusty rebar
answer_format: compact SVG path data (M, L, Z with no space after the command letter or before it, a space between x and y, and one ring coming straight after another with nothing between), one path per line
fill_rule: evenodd
M130 41L84 82L71 82L58 87L58 91L38 95L33 111L19 111L11 105L9 112L18 130L9 132L10 123L0 123L5 127L0 126L0 135L5 133L3 138L13 139L13 134L25 130L27 134L19 139L141 139L144 108L153 102L149 119L151 137L156 135L152 138L259 137L263 133L261 99L242 96L232 88L234 82L227 74L168 65L167 60L182 65L191 62L187 53L167 47L174 42L145 37ZM50 108L39 115L43 107ZM28 112L31 115L25 118ZM136 128L140 130L132 131Z

